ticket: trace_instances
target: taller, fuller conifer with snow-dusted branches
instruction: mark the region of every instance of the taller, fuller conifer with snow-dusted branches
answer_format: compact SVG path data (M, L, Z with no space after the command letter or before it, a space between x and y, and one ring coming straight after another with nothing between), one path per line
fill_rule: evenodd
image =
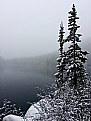
M69 12L70 16L68 17L68 30L69 35L67 37L67 41L71 42L69 49L67 51L68 57L68 69L67 69L67 77L70 81L70 85L77 86L80 84L84 84L86 80L86 70L84 68L84 63L86 62L87 58L86 55L88 54L87 51L82 51L81 47L79 46L80 36L81 34L77 33L77 30L80 26L77 25L77 12L75 9L75 5L73 4L72 11Z

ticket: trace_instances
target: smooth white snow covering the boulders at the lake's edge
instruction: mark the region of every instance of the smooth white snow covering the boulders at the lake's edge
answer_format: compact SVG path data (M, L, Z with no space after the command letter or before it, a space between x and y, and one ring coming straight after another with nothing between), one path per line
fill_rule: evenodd
M3 121L33 121L34 119L39 119L41 117L41 110L42 103L46 104L46 107L49 106L48 102L45 99L41 99L39 102L33 104L26 112L24 117L16 116L13 114L7 115L3 118Z

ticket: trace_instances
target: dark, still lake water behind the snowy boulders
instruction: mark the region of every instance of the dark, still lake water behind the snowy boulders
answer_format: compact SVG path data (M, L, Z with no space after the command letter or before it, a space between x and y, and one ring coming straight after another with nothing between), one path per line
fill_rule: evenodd
M5 69L0 73L0 104L7 98L26 111L29 108L27 102L39 100L36 96L39 90L36 87L46 89L45 85L53 81L54 78L48 75Z

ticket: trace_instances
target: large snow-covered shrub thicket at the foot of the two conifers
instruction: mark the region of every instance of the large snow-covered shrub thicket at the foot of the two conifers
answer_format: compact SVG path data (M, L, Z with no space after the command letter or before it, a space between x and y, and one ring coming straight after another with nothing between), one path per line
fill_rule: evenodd
M46 95L34 106L39 118L34 121L90 121L91 120L91 81L77 90L67 83L54 94ZM30 112L31 113L31 112Z

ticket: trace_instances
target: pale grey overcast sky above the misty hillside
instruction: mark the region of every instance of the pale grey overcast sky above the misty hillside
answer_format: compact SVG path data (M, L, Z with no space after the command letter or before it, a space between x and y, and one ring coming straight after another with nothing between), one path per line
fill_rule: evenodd
M82 39L91 37L91 0L0 0L0 55L31 57L58 49L61 21L75 4ZM66 31L67 35L67 31Z

